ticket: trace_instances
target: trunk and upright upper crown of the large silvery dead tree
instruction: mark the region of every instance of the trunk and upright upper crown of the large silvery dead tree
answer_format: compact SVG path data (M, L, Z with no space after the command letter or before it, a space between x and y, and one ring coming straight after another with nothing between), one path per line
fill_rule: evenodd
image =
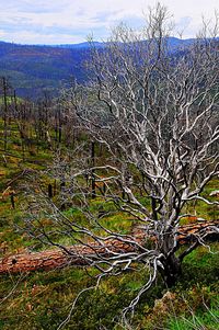
M198 243L176 257L183 209L191 201L211 204L201 192L219 174L219 67L215 38L197 38L181 55L171 53L165 18L160 5L150 13L147 42L120 26L104 52L93 49L94 86L78 102L76 95L74 112L116 161L127 195L119 207L138 214L146 230L155 234L155 249L147 252L150 264L172 285L183 258ZM141 178L151 207L138 200L127 171Z

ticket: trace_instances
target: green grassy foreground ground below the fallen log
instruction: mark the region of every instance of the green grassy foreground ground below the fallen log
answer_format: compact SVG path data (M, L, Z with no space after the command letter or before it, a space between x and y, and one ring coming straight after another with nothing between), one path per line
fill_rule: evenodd
M212 244L212 248L217 247ZM214 260L209 258L207 250L204 252L198 249L196 253L199 253L200 263L197 264L195 277L193 264L196 262L196 255L193 253L186 260L186 275L184 274L181 282L172 288L174 299L161 305L164 307L155 311L154 299L160 299L166 292L159 278L157 286L140 299L132 320L134 329L160 329L159 326L163 329L177 329L174 327L178 325L180 329L184 330L186 325L188 327L187 321L194 321L196 326L201 322L205 329L218 329L215 318L218 317L219 289L217 278L212 276L218 271L218 264L215 257ZM77 294L82 288L95 284L95 273L93 269L88 269L87 272L83 269L71 268L48 273L32 273L23 280L20 280L19 275L3 276L0 286L1 298L11 292L19 280L20 283L11 296L0 304L1 329L57 329L68 316ZM146 278L146 272L135 272L103 280L97 289L89 291L80 297L65 329L95 330L105 327L108 330L122 330L120 311L135 297ZM196 329L189 327L187 329Z

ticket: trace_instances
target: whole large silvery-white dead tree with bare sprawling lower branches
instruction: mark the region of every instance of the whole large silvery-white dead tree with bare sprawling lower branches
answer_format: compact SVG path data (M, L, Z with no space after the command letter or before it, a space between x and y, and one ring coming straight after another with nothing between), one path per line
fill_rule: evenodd
M204 244L209 232L218 232L217 227L205 228L194 235L186 250L178 252L177 227L181 218L189 215L185 213L186 205L191 201L212 204L201 192L219 174L218 41L197 38L192 46L174 53L169 47L166 26L166 10L158 5L150 12L142 35L118 27L104 49L92 50L92 86L76 86L69 91L78 126L107 149L106 163L90 169L92 173L95 170L96 182L106 183L103 198L130 214L141 230L155 237L154 243L149 247L119 229L111 230L102 223L104 215L97 217L89 210L91 193L81 187L79 179L88 169L80 164L66 174L71 182L69 191L72 198L80 201L83 215L103 235L92 230L91 225L72 223L55 205L48 213L65 235L87 247L92 248L92 242L104 247L108 239L134 247L127 252L107 247L104 255L96 251L87 255L87 262L100 271L99 281L137 265L147 270L148 281L124 315L134 311L159 272L168 286L173 285L185 255ZM150 201L149 206L142 195ZM59 246L53 232L39 227L36 232L38 238Z

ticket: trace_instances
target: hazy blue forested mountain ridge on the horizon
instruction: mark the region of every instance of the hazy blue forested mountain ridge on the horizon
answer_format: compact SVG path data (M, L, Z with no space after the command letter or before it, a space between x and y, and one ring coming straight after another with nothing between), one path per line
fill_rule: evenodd
M168 38L172 50L193 42ZM94 45L105 47L104 43ZM20 96L37 98L45 89L55 94L73 78L81 83L88 80L84 61L89 57L89 43L42 46L0 42L0 77L9 77Z

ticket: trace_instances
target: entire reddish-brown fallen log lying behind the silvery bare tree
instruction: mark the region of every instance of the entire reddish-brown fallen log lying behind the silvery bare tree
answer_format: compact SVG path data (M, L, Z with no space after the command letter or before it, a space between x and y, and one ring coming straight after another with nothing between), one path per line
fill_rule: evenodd
M209 229L206 232L211 236L212 227L219 228L219 220L181 226L177 229L177 241L180 244L186 243L207 228ZM219 234L217 234L217 238ZM146 234L146 230L140 227L135 230L132 237L134 241L143 244L147 239L149 239L149 237L148 234ZM150 239L154 240L155 238L150 237ZM49 271L68 265L82 266L92 264L92 260L95 260L97 255L106 257L113 252L134 252L136 249L136 244L123 242L119 239L108 239L105 241L104 246L100 246L97 242L90 242L87 246L74 244L71 247L64 247L64 249L8 255L0 260L0 275L38 270Z

